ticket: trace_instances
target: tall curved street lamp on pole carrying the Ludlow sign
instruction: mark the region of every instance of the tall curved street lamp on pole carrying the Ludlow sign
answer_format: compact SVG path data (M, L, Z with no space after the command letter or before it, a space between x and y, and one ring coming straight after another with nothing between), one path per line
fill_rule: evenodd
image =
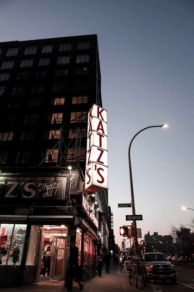
M168 125L160 125L160 126L150 126L142 129L139 131L131 140L129 144L129 175L130 175L130 185L131 185L131 207L132 207L132 215L136 215L135 213L135 203L134 203L134 189L133 189L133 180L132 180L132 172L131 172L131 157L130 157L130 150L131 150L131 144L134 140L134 138L141 133L142 131L148 129L148 128L166 128ZM135 285L136 288L144 288L143 284L143 275L141 275L140 272L140 265L139 265L139 256L138 256L138 241L137 241L137 225L136 220L133 220L133 225L135 226L135 236L134 236L134 247L135 247L135 256L136 256L136 275L135 275Z

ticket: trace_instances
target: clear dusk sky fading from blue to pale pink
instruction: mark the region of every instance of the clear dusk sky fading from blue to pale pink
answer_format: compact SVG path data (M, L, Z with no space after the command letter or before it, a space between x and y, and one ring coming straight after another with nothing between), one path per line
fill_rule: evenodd
M130 225L128 149L142 236L194 216L194 1L0 0L0 40L97 34L115 243ZM141 240L141 239L139 239ZM129 247L126 245L126 247Z

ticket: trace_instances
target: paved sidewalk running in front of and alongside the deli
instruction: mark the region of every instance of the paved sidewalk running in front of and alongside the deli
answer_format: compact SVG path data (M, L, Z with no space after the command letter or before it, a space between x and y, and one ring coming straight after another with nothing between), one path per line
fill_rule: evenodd
M74 278L75 279L75 278ZM106 274L106 268L103 267L102 277L98 277L98 274L94 274L90 278L81 281L85 286L83 292L130 292L130 291L150 291L154 289L150 285L147 285L144 289L137 289L135 286L129 284L129 273L123 272L123 267L116 267L112 263L110 265L110 273ZM23 285L22 287L5 287L0 289L1 292L58 292L67 291L64 286L64 281L42 281L35 282L31 285ZM80 291L79 285L76 281L73 282L73 291Z

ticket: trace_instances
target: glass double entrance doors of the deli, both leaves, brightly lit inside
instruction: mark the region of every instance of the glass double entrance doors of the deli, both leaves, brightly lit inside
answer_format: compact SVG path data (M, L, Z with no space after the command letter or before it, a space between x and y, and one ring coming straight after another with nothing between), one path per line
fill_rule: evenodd
M47 254L49 249L50 255ZM65 250L65 236L42 235L37 281L64 279Z

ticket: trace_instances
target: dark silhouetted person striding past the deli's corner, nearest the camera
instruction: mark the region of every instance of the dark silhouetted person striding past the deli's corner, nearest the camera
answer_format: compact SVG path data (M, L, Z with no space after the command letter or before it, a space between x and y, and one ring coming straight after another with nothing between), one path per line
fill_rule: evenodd
M79 252L78 252L78 247L75 246L72 249L72 253L70 255L70 264L69 264L69 275L70 275L70 279L69 279L69 284L67 286L67 291L73 291L73 277L76 277L76 281L79 284L79 288L80 290L84 287L84 285L82 285L79 281L79 262L78 262L78 258L79 258Z

